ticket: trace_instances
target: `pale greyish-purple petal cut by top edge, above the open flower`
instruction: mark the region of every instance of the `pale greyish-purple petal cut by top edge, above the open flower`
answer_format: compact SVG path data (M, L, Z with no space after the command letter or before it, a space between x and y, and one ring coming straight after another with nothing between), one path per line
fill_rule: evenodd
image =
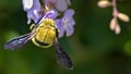
M68 9L69 4L71 4L70 0L57 0L56 9L60 12L63 12Z

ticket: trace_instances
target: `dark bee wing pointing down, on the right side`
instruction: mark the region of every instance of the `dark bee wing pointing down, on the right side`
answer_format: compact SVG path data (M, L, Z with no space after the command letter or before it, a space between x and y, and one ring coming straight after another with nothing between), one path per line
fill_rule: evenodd
M68 70L73 70L73 65L69 55L66 53L66 51L63 50L62 46L59 44L57 38L55 39L55 47L56 47L57 62Z

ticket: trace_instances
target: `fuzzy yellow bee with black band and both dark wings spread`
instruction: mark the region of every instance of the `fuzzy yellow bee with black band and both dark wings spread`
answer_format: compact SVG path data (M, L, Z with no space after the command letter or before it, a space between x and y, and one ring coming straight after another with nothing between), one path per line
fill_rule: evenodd
M66 53L62 46L58 41L58 29L55 27L53 20L45 18L41 23L32 26L31 33L8 41L4 45L4 48L10 50L19 49L31 39L36 46L41 48L48 48L53 44L56 47L55 51L57 62L66 69L73 69L69 55Z

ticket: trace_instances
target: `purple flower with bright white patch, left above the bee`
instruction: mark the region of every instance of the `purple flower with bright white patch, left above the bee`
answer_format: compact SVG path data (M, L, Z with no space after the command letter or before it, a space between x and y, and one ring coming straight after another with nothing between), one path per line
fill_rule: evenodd
M27 24L31 24L31 21L33 20L35 23L38 22L41 14L40 11L40 2L39 0L22 0L23 2L23 9L27 13Z

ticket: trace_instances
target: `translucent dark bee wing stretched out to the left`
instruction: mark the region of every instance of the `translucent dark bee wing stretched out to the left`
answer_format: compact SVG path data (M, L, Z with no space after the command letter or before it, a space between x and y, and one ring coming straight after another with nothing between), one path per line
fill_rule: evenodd
M28 33L26 35L16 37L14 39L11 39L10 41L8 41L7 44L4 44L4 49L10 49L10 50L14 50L17 48L21 48L25 42L27 42L32 37L34 36L34 34Z

